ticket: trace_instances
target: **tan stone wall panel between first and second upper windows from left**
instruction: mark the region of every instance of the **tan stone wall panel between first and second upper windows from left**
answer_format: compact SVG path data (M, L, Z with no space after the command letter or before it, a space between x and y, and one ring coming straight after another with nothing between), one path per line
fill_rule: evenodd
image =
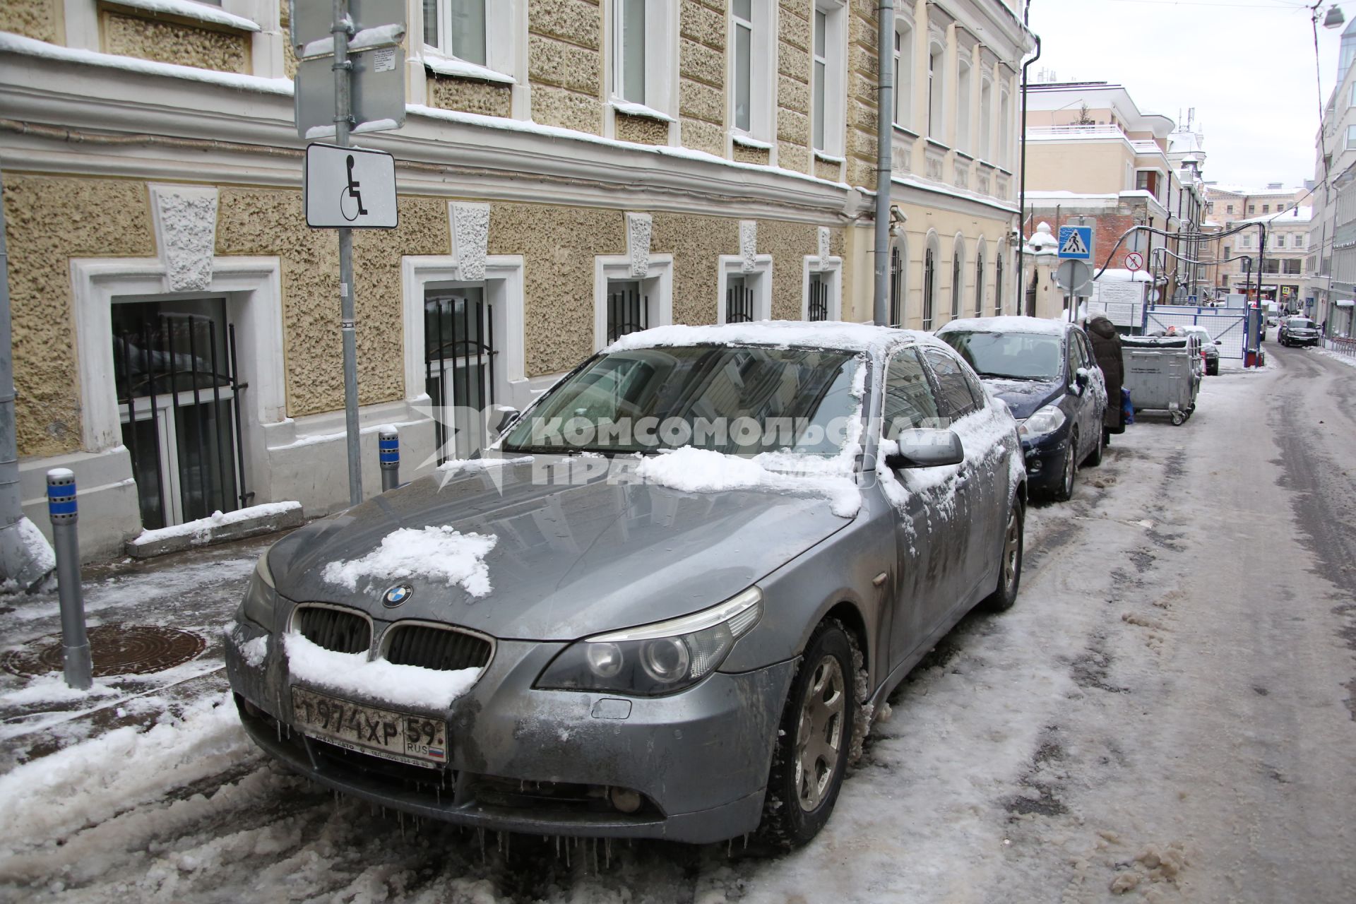
M532 0L527 79L534 122L602 134L601 47L598 0Z

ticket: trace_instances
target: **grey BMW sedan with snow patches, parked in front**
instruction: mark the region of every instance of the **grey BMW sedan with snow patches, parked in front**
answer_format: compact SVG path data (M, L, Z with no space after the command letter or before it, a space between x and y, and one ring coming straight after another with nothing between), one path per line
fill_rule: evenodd
M793 847L866 714L1017 596L1017 426L926 333L662 327L510 416L259 560L226 672L268 755L466 827Z

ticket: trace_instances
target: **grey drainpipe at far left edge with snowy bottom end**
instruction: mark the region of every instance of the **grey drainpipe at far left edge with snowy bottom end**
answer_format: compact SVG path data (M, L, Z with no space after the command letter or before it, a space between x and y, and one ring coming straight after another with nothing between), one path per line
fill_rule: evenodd
M4 179L0 178L0 201ZM43 583L57 560L37 525L23 516L19 496L19 443L14 422L14 342L9 331L9 253L0 203L0 580L26 591Z

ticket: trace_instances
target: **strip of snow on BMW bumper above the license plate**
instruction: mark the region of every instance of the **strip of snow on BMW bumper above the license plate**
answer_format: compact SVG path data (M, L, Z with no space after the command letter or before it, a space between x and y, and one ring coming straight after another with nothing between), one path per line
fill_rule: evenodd
M366 653L336 653L301 634L283 634L292 676L340 694L380 699L396 706L445 709L476 683L479 668L445 672L419 665L396 665Z

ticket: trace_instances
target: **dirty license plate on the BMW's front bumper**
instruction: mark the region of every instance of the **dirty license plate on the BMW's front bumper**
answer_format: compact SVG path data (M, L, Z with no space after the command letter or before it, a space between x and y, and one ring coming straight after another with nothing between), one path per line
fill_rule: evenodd
M292 689L297 728L331 744L415 766L447 764L447 724Z

